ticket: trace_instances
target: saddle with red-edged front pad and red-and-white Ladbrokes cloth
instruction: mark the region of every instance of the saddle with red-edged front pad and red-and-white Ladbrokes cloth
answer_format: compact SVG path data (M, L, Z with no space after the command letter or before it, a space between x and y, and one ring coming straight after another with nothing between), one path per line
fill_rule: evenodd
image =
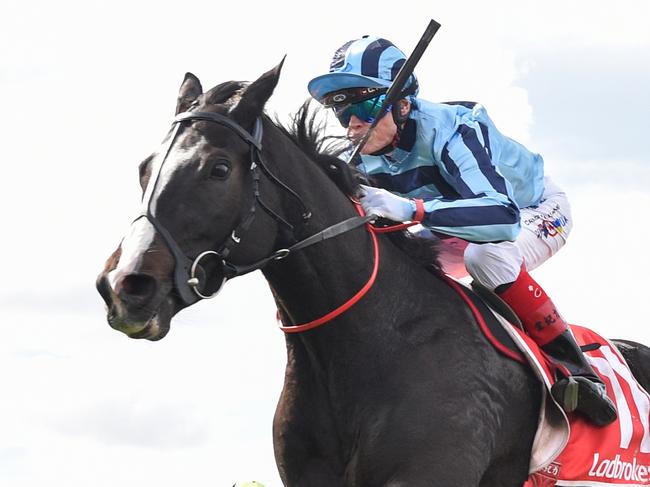
M587 360L615 400L618 419L596 427L566 414L550 393L552 367L522 330L508 305L472 283L450 281L471 303L478 326L503 355L528 364L543 384L529 478L523 487L636 487L650 485L650 395L630 371L617 347L595 332L570 325Z

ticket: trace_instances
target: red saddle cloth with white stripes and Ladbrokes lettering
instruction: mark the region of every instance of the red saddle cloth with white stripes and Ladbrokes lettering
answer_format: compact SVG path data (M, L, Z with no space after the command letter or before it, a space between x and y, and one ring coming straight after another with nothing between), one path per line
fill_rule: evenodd
M580 345L600 344L585 355L615 401L618 419L599 428L569 414L566 448L523 487L650 485L650 396L613 344L586 328L571 329Z

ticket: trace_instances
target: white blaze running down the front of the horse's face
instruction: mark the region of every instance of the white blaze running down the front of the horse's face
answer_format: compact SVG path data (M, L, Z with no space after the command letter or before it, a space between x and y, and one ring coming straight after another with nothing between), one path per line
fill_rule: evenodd
M163 149L151 160L151 175L142 199L141 215L147 213L147 205L149 205L151 214L156 216L159 196L172 181L176 171L190 160L190 151L180 148L182 138L182 136L177 137L166 159L167 144L163 142ZM195 150L193 148L191 152ZM144 216L131 223L127 235L120 244L122 250L120 260L115 269L108 274L108 282L113 292L117 292L116 286L123 276L132 274L140 268L144 255L153 245L155 237L156 229Z

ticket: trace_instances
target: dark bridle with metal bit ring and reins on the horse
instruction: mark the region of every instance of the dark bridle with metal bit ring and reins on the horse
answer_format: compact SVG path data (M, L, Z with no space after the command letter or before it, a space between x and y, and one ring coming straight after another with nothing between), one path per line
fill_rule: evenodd
M206 250L199 253L194 259L190 259L187 255L181 250L180 246L172 237L171 233L164 227L164 225L156 218L152 212L152 198L155 192L156 185L158 184L162 168L167 160L167 157L171 151L171 148L176 140L179 128L185 122L193 121L207 121L216 123L222 126L225 126L232 130L237 136L243 139L248 143L250 147L250 172L252 179L252 194L251 202L247 213L241 218L237 226L230 232L229 237L221 244L218 250ZM164 157L162 158L160 165L158 166L158 171L155 173L155 178L150 179L149 184L147 185L146 192L143 196L143 202L146 202L145 211L139 215L136 220L140 218L146 218L151 222L156 231L162 236L163 240L167 244L173 258L174 258L174 286L178 293L178 296L186 305L191 305L201 299L210 299L215 297L225 282L228 279L233 277L241 276L248 274L249 272L255 271L257 269L262 269L268 263L281 260L289 256L291 253L314 245L318 242L322 242L329 238L335 237L342 233L348 232L355 228L361 227L368 224L369 222L376 219L375 215L365 215L360 211L359 216L355 216L344 220L342 222L336 223L332 226L321 230L310 237L307 237L290 247L281 248L272 252L269 256L258 260L257 262L247 264L247 265L236 265L232 262L226 260L230 255L233 248L239 244L241 241L242 235L248 230L248 228L253 223L255 218L256 207L259 206L266 213L268 213L273 219L278 221L280 224L287 226L290 229L293 229L293 226L280 217L277 213L271 210L260 197L260 169L261 171L271 180L274 184L278 185L281 189L286 191L292 198L296 199L302 209L302 219L303 221L309 220L311 217L311 212L307 209L304 202L300 196L292 190L289 186L284 184L280 179L278 179L268 168L263 157L262 157L262 120L258 117L255 120L253 134L250 134L246 131L241 125L233 121L232 119L221 115L219 113L213 112L183 112L179 113L172 124L173 132L170 135L167 145L164 148ZM152 170L153 174L153 170ZM360 208L360 205L357 206ZM135 220L134 220L135 221ZM369 225L368 225L369 227ZM374 237L374 234L373 234ZM375 242L376 247L376 242ZM217 262L221 265L223 278L216 290L209 295L203 294L201 292L201 278L205 277L206 273L204 272L201 261L208 256L214 256L217 259ZM375 256L378 260L378 255ZM374 273L376 274L376 272ZM374 279L373 279L374 281ZM365 294L365 293L364 293ZM359 297L360 299L360 297ZM356 302L356 301L355 301Z

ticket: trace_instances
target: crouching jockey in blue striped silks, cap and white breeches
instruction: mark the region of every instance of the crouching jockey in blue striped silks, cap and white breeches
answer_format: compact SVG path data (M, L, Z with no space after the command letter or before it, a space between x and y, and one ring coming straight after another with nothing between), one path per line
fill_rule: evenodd
M364 36L339 48L329 73L312 79L308 90L358 141L405 61L391 42ZM411 75L362 150L358 168L378 186L363 187L363 207L469 242L467 272L513 309L561 371L552 389L558 403L597 425L611 423L616 408L605 385L528 273L571 232L565 193L544 175L542 157L501 134L482 105L431 103L417 93Z

